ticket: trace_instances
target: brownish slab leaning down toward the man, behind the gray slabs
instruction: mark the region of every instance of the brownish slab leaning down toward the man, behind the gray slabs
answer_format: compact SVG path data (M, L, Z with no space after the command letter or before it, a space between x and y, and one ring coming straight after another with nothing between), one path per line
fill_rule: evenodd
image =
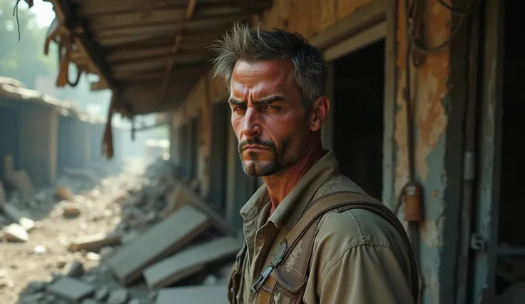
M178 210L180 206L190 204L190 206L193 206L205 213L205 215L207 215L212 221L213 226L219 230L220 233L232 236L237 235L237 232L230 226L230 223L228 223L228 221L226 221L222 216L218 215L218 213L213 211L213 209L210 208L210 205L204 201L203 198L200 198L200 196L198 196L188 186L185 186L183 183L178 183L173 191L174 193L170 196L172 201L168 202L168 214Z

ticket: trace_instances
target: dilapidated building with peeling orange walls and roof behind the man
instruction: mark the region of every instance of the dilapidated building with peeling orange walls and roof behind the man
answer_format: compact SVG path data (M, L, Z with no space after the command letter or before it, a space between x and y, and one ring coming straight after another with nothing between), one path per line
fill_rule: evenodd
M392 209L400 202L403 221L407 186L421 191L424 212L408 220L419 227L422 303L525 294L515 2L50 2L48 39L70 55L61 60L100 76L93 90L113 91L108 117L170 113L177 178L235 230L262 182L239 166L228 90L205 46L235 21L304 35L329 64L334 110L322 139L342 173Z

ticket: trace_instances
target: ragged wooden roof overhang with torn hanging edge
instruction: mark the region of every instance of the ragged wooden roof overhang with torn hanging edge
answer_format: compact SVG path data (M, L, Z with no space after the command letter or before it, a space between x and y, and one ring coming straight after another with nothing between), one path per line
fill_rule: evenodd
M213 54L205 48L233 22L248 22L271 0L48 0L56 19L46 54L60 49L56 86L96 74L92 90L113 91L113 111L132 117L170 111L183 102ZM78 75L80 76L80 74ZM70 77L72 79L70 79Z

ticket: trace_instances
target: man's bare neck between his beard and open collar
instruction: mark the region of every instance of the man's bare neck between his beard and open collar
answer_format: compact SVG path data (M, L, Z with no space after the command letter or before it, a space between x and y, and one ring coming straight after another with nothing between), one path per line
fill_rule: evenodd
M275 208L277 208L279 203L292 191L302 176L305 176L307 171L310 170L325 153L320 138L312 141L307 147L305 155L302 156L297 163L277 174L263 177L270 200L272 201L270 213L275 211Z

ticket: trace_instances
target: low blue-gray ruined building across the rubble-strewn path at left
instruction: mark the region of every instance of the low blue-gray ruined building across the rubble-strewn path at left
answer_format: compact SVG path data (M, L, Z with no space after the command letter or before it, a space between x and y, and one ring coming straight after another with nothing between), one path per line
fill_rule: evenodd
M0 77L0 110L0 181L7 187L13 183L5 180L10 172L15 178L26 176L31 188L44 187L52 186L57 174L68 168L103 161L103 118L5 77ZM116 128L115 133L119 151L115 159L121 160L123 129Z

